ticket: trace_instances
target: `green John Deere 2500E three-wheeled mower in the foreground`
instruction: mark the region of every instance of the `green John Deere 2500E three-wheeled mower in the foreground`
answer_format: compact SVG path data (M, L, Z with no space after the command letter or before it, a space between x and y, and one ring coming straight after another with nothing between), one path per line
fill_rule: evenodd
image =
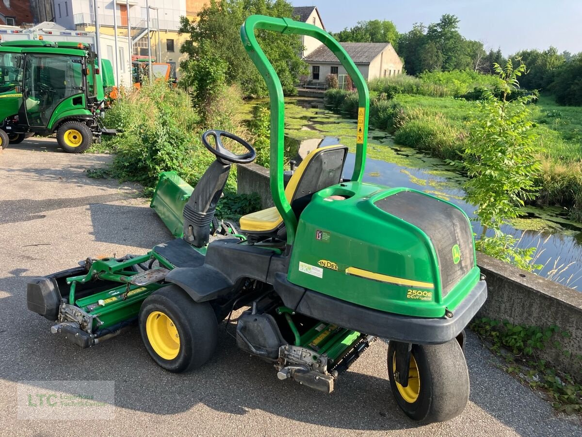
M360 116L349 181L342 180L347 148L338 145L312 151L283 185L283 92L255 30L318 38L353 78ZM271 362L279 379L325 393L379 337L389 341L388 378L404 413L425 422L455 417L469 397L463 329L487 297L467 216L422 192L361 181L368 90L328 33L251 16L241 37L271 98L275 206L243 216L240 230L218 223L231 164L251 163L255 151L232 133L207 131L202 140L216 160L196 188L164 173L152 200L182 237L143 256L87 258L33 280L29 309L56 320L52 332L81 347L137 321L148 353L171 372L210 360L226 319L237 346ZM246 151L227 150L222 138ZM230 319L238 309L235 329Z

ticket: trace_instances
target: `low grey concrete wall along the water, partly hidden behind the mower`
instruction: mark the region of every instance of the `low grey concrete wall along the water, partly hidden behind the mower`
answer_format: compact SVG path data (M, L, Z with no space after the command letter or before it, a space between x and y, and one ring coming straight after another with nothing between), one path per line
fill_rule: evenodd
M273 206L269 171L257 164L237 165L238 192L258 193L263 208ZM478 317L508 320L516 325L559 326L570 337L554 334L538 358L549 366L582 380L582 292L556 284L533 273L517 269L490 256L477 254L477 265L487 276L488 297ZM566 357L553 346L559 341Z

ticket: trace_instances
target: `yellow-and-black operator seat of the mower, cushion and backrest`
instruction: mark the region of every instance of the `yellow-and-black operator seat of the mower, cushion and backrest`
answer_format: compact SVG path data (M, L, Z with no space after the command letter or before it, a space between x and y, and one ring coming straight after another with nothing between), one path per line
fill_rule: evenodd
M339 183L346 156L346 146L326 146L311 151L301 161L285 188L285 197L297 219L314 193ZM286 239L285 223L275 206L240 217L240 230L250 241Z

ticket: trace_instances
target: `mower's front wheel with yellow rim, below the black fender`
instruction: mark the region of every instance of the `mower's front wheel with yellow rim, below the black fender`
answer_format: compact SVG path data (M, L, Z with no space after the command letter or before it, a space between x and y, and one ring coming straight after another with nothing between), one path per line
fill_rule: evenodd
M166 286L146 298L139 325L148 353L170 372L200 367L216 348L218 323L212 306L194 302L178 286Z

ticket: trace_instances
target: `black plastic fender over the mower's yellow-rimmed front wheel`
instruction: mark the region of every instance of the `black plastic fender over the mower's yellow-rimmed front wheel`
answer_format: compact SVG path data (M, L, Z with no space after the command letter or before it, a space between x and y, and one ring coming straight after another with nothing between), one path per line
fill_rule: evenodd
M165 280L186 291L194 302L207 302L227 295L234 286L221 272L206 265L178 267L171 270Z

